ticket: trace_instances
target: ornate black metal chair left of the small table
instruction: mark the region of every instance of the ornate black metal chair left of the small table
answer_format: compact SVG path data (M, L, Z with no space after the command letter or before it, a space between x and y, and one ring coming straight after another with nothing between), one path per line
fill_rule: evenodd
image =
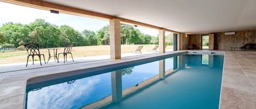
M34 44L34 43L28 43L28 44L25 44L25 47L27 49L27 63L28 63L28 57L29 56L32 56L32 60L33 60L33 65L34 65L34 56L38 56L39 57L39 60L40 60L40 64L42 65L41 63L41 55L43 55L44 57L44 54L40 54L39 52L39 45L38 44ZM45 58L44 58L44 63L46 64L45 62ZM27 67L27 65L26 65Z

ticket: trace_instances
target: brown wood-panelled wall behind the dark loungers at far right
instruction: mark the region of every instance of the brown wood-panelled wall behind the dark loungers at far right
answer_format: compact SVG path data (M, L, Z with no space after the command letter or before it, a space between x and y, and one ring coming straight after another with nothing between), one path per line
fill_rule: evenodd
M236 31L235 35L215 33L215 49L230 50L231 47L241 47L246 43L256 43L256 30Z

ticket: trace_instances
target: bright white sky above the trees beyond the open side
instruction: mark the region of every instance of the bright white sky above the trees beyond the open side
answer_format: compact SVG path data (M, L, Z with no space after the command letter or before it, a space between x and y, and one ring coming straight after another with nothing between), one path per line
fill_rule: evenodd
M31 22L34 22L37 18L44 19L46 22L55 24L57 26L66 24L80 32L85 29L96 32L100 28L109 24L109 21L98 20L96 18L74 16L62 13L52 14L50 11L23 7L20 5L4 2L0 2L0 10L0 27L2 26L2 24L7 22L29 24ZM149 29L139 26L135 28L139 29L144 34L148 34L151 36L158 35L158 30L155 29Z

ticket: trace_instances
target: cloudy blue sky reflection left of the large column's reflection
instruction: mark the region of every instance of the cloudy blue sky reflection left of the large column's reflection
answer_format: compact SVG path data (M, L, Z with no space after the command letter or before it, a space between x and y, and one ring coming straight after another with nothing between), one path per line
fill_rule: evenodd
M109 73L68 83L72 84L64 82L28 92L27 108L79 108L111 94ZM98 91L102 87L103 90Z

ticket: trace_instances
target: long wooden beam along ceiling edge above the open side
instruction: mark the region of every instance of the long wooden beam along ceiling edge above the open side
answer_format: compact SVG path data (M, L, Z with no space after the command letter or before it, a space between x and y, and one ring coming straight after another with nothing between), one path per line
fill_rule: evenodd
M7 2L7 3L12 3L12 4L17 4L17 5L23 5L25 7L43 9L43 10L56 10L56 11L59 11L59 12L65 13L65 14L98 18L100 20L111 20L113 18L116 18L116 19L120 20L123 23L141 25L142 27L148 27L148 28L153 28L153 29L163 29L165 31L169 31L169 32L172 32L172 33L179 34L178 31L157 27L155 25L141 23L141 22L137 22L137 21L133 21L133 20L128 20L126 18L101 14L101 13L98 13L98 12L93 12L93 11L68 7L66 5L60 5L60 4L55 4L55 3L51 3L51 2L45 2L45 1L40 1L40 0L0 0L0 1Z

